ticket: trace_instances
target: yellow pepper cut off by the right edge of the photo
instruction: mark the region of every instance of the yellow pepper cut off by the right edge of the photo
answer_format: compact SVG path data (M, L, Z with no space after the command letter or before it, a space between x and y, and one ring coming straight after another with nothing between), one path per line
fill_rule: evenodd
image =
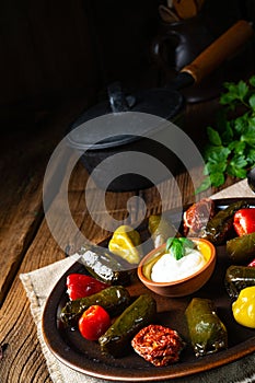
M232 311L239 324L255 328L255 286L241 290L239 298L232 304Z

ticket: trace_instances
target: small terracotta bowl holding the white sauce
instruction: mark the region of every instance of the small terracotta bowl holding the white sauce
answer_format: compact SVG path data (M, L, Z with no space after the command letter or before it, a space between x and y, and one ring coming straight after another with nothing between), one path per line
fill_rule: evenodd
M147 254L138 266L138 277L140 281L150 290L164 297L185 297L199 290L211 277L216 267L216 248L207 240L192 239L198 249L207 259L204 267L197 272L184 279L178 279L174 282L154 282L150 279L150 274L153 265L161 255L164 254L165 244L154 248Z

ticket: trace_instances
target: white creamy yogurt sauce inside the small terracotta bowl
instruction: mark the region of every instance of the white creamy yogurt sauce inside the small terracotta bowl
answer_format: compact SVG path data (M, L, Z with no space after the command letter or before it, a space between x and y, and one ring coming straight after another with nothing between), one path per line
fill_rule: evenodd
M186 247L185 256L178 260L171 252L165 253L153 265L151 280L154 282L174 282L197 272L205 264L204 255L194 248Z

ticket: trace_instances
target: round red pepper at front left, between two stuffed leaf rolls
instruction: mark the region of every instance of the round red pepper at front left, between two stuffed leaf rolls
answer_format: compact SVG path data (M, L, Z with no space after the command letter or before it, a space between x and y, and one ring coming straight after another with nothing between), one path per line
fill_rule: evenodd
M88 340L97 340L109 326L109 314L97 304L91 305L79 320L79 330Z

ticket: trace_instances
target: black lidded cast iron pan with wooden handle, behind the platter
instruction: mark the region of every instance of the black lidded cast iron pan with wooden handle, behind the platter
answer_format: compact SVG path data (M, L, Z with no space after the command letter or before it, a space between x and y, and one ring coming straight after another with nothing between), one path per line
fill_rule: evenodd
M137 92L137 94L132 96L126 97L118 85L116 86L116 84L114 84L109 86L109 101L95 105L86 111L80 118L71 124L70 132L67 136L68 144L81 153L81 161L88 172L91 174L92 171L96 170L93 172L95 184L103 190L127 192L143 189L165 179L165 174L161 171L159 171L158 178L155 182L153 181L153 183L147 177L136 174L136 172L115 177L114 166L111 162L103 170L97 169L97 165L103 160L119 152L136 151L147 153L158 159L159 162L163 163L174 175L179 171L183 164L181 161L182 159L178 159L173 152L170 152L167 148L158 143L158 126L152 129L150 128L151 137L148 138L144 137L144 135L148 136L146 131L147 127L144 131L142 130L140 136L137 135L136 127L134 134L127 135L125 128L121 128L124 124L120 123L119 135L113 137L113 135L111 135L111 126L108 127L107 124L103 124L102 130L97 132L94 130L89 130L88 132L88 121L98 116L102 117L109 114L113 118L115 118L115 116L116 118L126 118L129 116L127 115L128 113L131 112L134 115L134 112L138 112L146 115L159 116L159 119L171 120L179 126L181 112L183 111L185 100L178 90L189 86L193 83L199 83L216 68L220 67L225 59L236 53L252 35L253 27L251 24L243 20L239 21L206 48L192 63L184 67L166 88L143 90ZM159 121L155 124L159 124ZM79 135L77 135L77 128L80 130ZM164 127L164 134L169 136L169 140L171 141L171 124L166 128ZM104 131L105 134L107 129L109 129L107 138L102 140L100 131ZM105 174L108 175L108 178L111 178L109 175L113 174L113 181L109 185L107 183L108 178L105 179Z

